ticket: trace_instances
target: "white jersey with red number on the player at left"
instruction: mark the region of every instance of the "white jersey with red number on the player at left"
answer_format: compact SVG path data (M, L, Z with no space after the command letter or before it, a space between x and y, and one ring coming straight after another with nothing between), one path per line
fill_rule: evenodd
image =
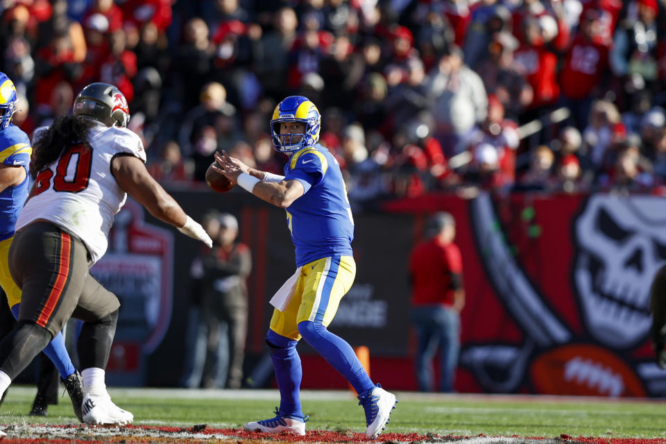
M92 150L71 146L39 173L16 230L35 219L46 219L76 234L97 262L108 247L113 217L127 198L111 173L111 160L128 154L146 162L146 151L132 131L102 124L90 129L88 142Z

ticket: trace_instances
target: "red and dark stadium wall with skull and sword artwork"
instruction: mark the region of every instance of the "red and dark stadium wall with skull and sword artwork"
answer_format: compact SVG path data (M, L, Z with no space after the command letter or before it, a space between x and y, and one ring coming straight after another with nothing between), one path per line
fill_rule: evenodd
M239 216L241 241L252 249L254 261L248 282L250 373L265 352L272 311L267 301L293 273L284 212L244 193L172 192L195 216L209 207ZM358 274L330 329L353 346L370 349L370 373L377 382L396 390L416 388L407 257L427 216L446 210L457 223L467 296L457 391L665 395L666 375L653 364L649 345L648 304L651 277L666 263L665 204L657 196L607 194L481 194L474 199L432 194L386 202L379 211L355 215ZM143 217L146 225L160 225ZM117 384L177 384L182 368L165 363L173 363L176 353L184 356L187 346L187 271L198 248L194 244L174 234L171 313L160 314L168 329L154 350L139 352L135 370L110 370ZM123 331L136 331L137 316L130 318L133 325L119 325L124 342L117 339L126 347L132 340ZM157 341L155 332L142 337L153 345ZM299 350L304 388L347 386L307 344ZM132 373L137 376L128 379Z

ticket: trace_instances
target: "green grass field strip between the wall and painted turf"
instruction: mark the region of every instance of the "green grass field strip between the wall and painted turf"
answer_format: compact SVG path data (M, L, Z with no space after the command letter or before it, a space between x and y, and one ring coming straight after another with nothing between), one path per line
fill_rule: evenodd
M110 388L116 404L132 411L135 425L228 429L270 418L277 390L188 391L181 389ZM73 424L69 398L49 407L49 416L33 418L35 388L12 386L0 408L0 424L44 422ZM436 395L396 393L400 402L386 432L454 436L543 436L666 438L666 402L605 398L558 398L511 395ZM364 432L355 397L344 391L303 391L308 429Z

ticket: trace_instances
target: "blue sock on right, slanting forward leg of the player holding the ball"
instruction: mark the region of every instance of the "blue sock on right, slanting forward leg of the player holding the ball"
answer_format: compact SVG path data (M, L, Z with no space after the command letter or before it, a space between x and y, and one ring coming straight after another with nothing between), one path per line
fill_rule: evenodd
M361 394L375 388L375 384L347 341L329 332L321 323L311 321L299 323L298 332L305 342L317 350L328 364L352 384L356 393Z

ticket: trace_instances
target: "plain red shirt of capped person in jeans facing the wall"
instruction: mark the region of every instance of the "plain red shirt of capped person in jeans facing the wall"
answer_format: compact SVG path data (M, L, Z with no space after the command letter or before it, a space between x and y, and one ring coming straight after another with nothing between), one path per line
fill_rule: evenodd
M456 293L462 287L463 262L460 249L453 243L453 218L450 214L447 217L451 224L447 225L448 230L439 230L429 239L422 241L413 249L409 258L412 305L462 303L456 302Z

